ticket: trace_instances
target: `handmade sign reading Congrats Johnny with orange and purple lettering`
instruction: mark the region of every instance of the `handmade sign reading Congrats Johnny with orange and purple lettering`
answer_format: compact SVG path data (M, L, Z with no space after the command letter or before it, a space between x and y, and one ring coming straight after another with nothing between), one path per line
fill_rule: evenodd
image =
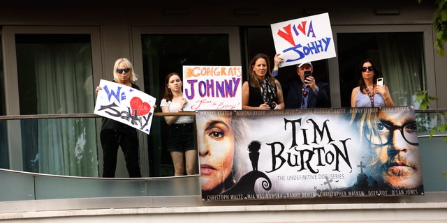
M183 66L185 111L242 109L240 66Z

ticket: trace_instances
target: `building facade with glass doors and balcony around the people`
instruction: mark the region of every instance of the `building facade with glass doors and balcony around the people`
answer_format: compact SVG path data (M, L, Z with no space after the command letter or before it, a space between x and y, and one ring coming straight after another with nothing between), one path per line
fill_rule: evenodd
M98 220L98 216L103 216L106 220L110 216L119 216L117 219L125 216L131 217L128 220L145 221L150 215L164 217L169 222L181 216L174 215L168 220L166 215L170 213L189 213L191 219L211 216L210 213L215 213L215 216L237 213L246 216L246 220L241 220L243 222L262 222L260 219L272 222L272 218L262 216L281 213L284 219L277 218L277 222L295 218L290 221L312 222L318 220L318 215L323 212L321 215L325 217L321 221L330 222L332 215L354 212L353 218L339 217L332 222L378 222L403 216L402 220L413 222L419 219L445 221L446 217L439 213L445 212L447 206L444 194L447 183L442 176L447 167L440 163L442 154L445 157L447 151L441 140L437 141L439 138L422 139L427 145L422 148L421 144L421 150L427 154L423 156L422 164L428 173L424 178L427 194L423 197L267 201L268 206L260 208L258 204L261 202L203 203L199 199L200 187L195 187L199 176L171 177L170 157L163 150L166 124L161 116L154 117L153 134L139 135L144 179L122 179L126 182L124 187L119 180L94 179L102 174L102 152L98 140L101 118L88 115L94 110L94 89L101 79L113 78L112 68L116 59L129 58L139 76L136 84L157 99L163 96L164 77L169 72L181 73L184 65L242 66L244 79L247 79L247 64L254 54L262 52L273 59L275 49L270 24L320 13L330 16L337 57L314 61L313 64L316 78L330 84L331 107L349 107L351 90L356 86L358 63L370 58L381 68L396 105L413 105L418 109L416 94L428 91L439 98L430 108L445 109L447 59L439 56L433 47L435 8L434 1L418 3L416 0L4 3L0 8L0 115L9 118L0 120L0 132L3 132L0 136L0 168L20 173L8 172L2 176L19 176L17 178L32 184L45 182L41 184L45 186L56 184L45 188L25 187L26 191L34 191L30 192L33 195L3 192L8 194L8 198L4 197L0 202L0 206L5 207L0 208L3 210L0 217L20 221L23 219L10 213L22 213L24 219L32 220L39 217L35 212L57 211L54 215L41 215L42 219L50 222L66 215L60 210L78 211L87 207L96 210L98 215L78 211L70 217ZM279 81L287 82L295 75L294 72L293 68L281 68ZM161 110L156 109L156 112ZM34 119L34 115L54 114L72 117L62 118L66 121ZM76 132L73 139L63 139L67 129ZM54 135L59 134L61 137L54 141ZM82 146L79 146L78 139L83 139ZM64 153L45 149L50 144L61 148L68 145L73 149L61 150ZM431 159L437 160L431 162ZM125 178L124 159L120 157L119 160L117 177ZM22 175L22 171L49 176ZM54 175L64 177L55 179ZM116 184L122 189L133 188L133 192L101 194L103 187L98 181ZM89 183L98 185L90 189L99 194L85 192L83 188L89 187ZM156 189L159 183L168 185L168 189L164 188L165 192ZM192 186L178 192L177 184ZM73 185L73 188L65 186L66 189L62 190L61 185ZM58 192L52 194L55 191ZM40 196L38 192L41 192ZM28 196L32 199L27 199ZM89 203L85 198L94 199ZM78 204L62 204L70 199L75 199ZM54 203L57 205L52 205ZM362 203L361 207L356 203ZM11 208L15 206L26 208ZM226 208L222 210L219 206ZM113 212L110 208L124 209ZM137 211L133 208L143 209ZM385 214L376 215L376 209ZM257 216L255 220L249 220L253 217L251 215ZM300 220L298 215L305 217ZM362 215L372 220L362 219Z

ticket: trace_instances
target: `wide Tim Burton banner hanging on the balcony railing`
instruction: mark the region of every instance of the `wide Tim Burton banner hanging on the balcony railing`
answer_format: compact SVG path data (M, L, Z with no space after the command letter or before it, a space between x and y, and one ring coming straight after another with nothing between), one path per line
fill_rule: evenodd
M412 107L196 112L203 201L423 195Z

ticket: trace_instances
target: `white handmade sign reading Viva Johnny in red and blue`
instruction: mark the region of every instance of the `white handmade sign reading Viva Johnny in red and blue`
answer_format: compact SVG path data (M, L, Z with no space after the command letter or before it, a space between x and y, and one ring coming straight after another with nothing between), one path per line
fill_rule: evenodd
M284 59L281 67L336 56L328 13L270 26L276 52Z

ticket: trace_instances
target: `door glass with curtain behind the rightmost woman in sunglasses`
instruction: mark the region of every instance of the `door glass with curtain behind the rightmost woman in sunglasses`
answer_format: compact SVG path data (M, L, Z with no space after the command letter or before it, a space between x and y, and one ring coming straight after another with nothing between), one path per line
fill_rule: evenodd
M395 105L418 108L415 95L427 89L423 33L338 33L337 45L342 107L351 106L360 61L372 59Z

